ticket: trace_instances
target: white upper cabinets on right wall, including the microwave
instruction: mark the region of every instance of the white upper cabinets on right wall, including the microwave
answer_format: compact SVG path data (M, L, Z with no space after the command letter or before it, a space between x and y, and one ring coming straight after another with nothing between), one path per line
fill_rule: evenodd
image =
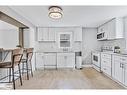
M98 27L98 40L112 40L124 38L123 18L114 18Z

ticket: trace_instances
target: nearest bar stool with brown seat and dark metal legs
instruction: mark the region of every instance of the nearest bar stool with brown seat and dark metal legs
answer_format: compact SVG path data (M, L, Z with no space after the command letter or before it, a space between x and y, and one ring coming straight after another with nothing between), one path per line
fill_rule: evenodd
M9 69L9 75L6 77L9 77L9 82L11 82L11 76L12 76L12 83L13 83L13 88L15 89L15 81L20 78L20 83L22 85L22 77L21 77L21 71L20 71L20 62L23 56L23 49L14 49L12 50L12 55L11 55L11 61L9 62L0 62L0 68L6 68ZM15 66L18 66L18 71L19 71L19 76L15 75ZM12 70L12 74L11 74ZM4 78L6 78L4 77ZM15 79L15 77L18 77ZM5 82L4 82L5 83Z

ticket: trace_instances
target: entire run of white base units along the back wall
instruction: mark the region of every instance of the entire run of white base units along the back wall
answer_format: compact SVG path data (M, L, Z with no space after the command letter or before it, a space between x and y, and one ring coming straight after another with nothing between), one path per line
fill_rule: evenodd
M75 68L75 53L36 53L36 69Z

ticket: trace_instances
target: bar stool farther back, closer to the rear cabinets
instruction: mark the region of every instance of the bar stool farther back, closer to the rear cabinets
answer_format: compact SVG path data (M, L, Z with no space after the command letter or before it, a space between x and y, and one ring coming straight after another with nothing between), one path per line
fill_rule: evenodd
M29 80L29 72L31 72L31 76L33 77L32 64L31 64L33 50L34 50L33 48L26 48L25 49L26 58L23 58L21 61L22 62L22 74L27 73L27 80ZM26 67L25 67L25 65L26 65ZM30 68L29 68L29 66L30 66Z

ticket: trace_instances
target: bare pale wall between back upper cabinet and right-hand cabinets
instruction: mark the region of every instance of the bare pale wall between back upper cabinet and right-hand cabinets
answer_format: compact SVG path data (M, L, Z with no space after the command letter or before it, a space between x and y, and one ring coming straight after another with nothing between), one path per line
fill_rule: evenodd
M101 43L97 41L97 29L96 28L83 28L83 43L82 43L82 59L83 65L90 65L91 52L100 50Z

